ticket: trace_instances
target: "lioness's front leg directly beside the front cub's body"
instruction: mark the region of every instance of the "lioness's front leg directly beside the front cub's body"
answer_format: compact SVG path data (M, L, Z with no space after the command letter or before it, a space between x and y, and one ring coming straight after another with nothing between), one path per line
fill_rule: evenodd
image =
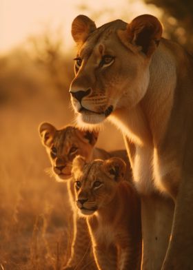
M141 198L143 270L161 269L170 240L173 213L172 199L159 194Z

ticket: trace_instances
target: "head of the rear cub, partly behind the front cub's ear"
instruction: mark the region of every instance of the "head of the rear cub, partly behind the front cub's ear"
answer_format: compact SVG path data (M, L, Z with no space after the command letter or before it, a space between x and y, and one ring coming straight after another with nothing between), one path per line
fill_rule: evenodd
M72 161L77 155L90 160L98 138L98 132L82 131L73 126L56 129L50 123L39 125L39 135L50 157L52 172L59 181L70 178Z

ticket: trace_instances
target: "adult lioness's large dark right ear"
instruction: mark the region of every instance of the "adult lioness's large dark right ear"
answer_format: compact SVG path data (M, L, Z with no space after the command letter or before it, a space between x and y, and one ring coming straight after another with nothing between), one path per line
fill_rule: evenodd
M140 46L145 55L151 56L159 45L162 32L163 28L156 17L143 14L133 19L127 29L118 34L125 45L129 41L132 45Z

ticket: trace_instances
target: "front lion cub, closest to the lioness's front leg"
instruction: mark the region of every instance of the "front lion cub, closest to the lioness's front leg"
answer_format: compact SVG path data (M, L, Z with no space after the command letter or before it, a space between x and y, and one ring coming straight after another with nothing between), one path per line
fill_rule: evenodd
M141 205L134 187L124 180L124 161L86 163L77 156L72 173L77 207L88 222L98 269L140 269Z

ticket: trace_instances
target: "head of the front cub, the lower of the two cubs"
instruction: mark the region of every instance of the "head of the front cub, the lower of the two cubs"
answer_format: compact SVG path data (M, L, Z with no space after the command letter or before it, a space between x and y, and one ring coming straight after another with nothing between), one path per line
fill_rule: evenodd
M94 214L112 202L119 182L125 176L125 167L121 158L94 160L91 163L86 163L81 156L74 158L72 177L81 214Z

